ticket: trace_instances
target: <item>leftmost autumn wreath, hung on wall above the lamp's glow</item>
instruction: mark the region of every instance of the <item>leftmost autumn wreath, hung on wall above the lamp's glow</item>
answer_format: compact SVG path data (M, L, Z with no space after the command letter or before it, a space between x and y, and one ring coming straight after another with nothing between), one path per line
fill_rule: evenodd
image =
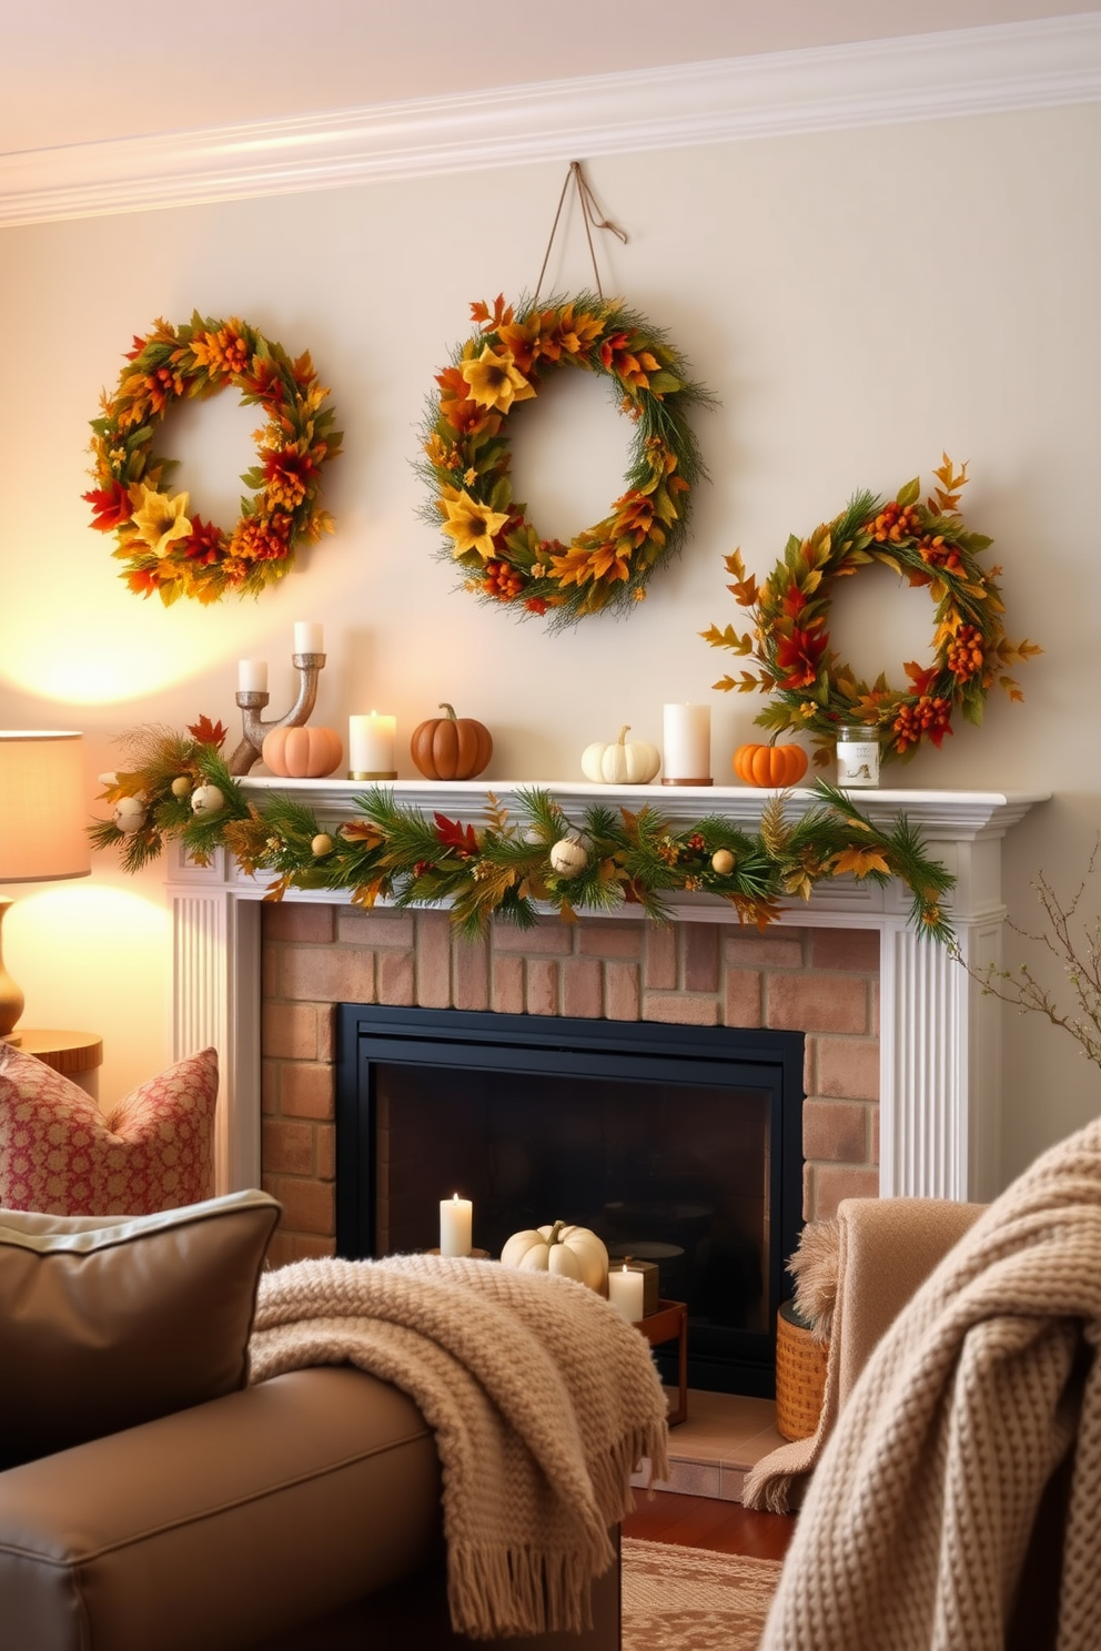
M84 494L92 525L114 533L120 575L139 596L154 591L170 604L180 596L216 603L226 593L259 596L289 571L302 542L332 532L319 509L320 472L340 452L328 390L317 381L309 355L286 350L241 320L211 320L198 312L190 325L158 320L134 338L102 418L92 419L92 475ZM259 406L266 424L256 433L258 464L241 480L256 489L241 500L229 532L190 512L187 494L165 480L175 459L154 452L157 426L185 396L210 396L233 385L243 406Z

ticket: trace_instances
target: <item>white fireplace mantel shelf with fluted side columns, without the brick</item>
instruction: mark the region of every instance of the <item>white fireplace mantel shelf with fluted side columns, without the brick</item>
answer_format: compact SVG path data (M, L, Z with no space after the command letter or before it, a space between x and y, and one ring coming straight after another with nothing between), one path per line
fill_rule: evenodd
M246 779L248 791L279 791L309 804L325 824L355 816L363 784L335 779ZM398 781L398 802L479 824L487 791L508 806L530 784ZM726 786L545 784L579 822L591 802L649 804L673 826L705 814L754 827L769 791ZM789 794L806 811L812 791ZM1047 792L862 791L872 819L906 814L931 852L956 877L951 920L962 959L974 967L1002 956L1002 837ZM168 900L173 933L173 1052L182 1058L215 1045L223 1086L218 1109L218 1185L259 1185L261 1134L261 928L266 882L248 877L228 854L208 867L172 849ZM347 893L294 890L287 900L338 905ZM736 923L718 898L670 901L680 923ZM810 901L786 906L801 928L873 928L880 934L880 1192L883 1195L990 1199L1000 1190L1000 1002L984 994L949 953L906 923L906 890L852 878L819 885ZM644 921L637 906L619 913ZM601 913L606 916L606 913Z

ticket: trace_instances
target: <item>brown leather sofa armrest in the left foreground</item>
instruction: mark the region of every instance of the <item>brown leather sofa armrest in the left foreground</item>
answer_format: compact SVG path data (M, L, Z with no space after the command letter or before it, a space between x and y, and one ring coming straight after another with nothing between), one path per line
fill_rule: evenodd
M0 1621L35 1651L239 1651L439 1544L413 1400L295 1370L0 1474Z

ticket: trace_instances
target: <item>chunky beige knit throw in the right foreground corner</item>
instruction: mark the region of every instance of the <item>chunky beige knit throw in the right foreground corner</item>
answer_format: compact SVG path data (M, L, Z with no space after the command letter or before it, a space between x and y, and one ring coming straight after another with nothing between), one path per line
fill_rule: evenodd
M1098 1651L1099 1341L1101 1121L985 1210L873 1352L810 1481L763 1651L1002 1651L1045 1595L1058 1651ZM1060 1575L1028 1545L1065 1458L1066 1504L1038 1524L1061 1524Z

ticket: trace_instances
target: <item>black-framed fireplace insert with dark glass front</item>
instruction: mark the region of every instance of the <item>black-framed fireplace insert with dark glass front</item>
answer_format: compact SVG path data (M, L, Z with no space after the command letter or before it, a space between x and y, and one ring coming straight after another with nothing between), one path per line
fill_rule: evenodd
M802 1205L801 1032L385 1009L337 1020L337 1250L439 1243L474 1204L492 1256L591 1227L688 1306L688 1382L771 1397ZM675 1351L659 1352L673 1375Z

